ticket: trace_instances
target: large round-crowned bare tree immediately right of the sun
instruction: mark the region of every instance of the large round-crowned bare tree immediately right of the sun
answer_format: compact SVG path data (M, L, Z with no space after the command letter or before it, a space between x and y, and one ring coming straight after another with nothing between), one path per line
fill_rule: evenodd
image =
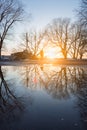
M54 19L48 26L49 40L60 48L64 58L67 58L70 49L70 19Z

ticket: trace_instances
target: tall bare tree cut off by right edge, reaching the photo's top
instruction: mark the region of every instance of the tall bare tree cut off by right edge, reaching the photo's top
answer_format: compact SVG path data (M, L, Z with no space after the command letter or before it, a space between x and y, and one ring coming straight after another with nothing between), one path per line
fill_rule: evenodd
M79 58L87 53L87 0L81 0L78 10L81 31L79 33Z

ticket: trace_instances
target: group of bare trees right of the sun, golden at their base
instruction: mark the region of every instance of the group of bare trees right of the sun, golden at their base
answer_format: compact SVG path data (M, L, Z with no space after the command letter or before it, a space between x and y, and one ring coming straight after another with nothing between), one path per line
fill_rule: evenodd
M70 23L69 18L54 19L46 33L48 41L60 48L64 58L82 59L87 52L87 29L79 21Z

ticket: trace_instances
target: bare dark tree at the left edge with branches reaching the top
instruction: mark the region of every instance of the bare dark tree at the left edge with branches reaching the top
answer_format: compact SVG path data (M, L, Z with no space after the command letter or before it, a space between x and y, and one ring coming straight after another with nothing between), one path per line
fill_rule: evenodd
M14 23L21 20L22 6L16 0L0 0L0 58L1 49Z

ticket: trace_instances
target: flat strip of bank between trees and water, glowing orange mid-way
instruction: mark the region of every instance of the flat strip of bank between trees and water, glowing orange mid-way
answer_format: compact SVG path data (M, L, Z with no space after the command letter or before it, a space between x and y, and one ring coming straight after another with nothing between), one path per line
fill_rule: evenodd
M28 65L28 64L59 64L59 65L87 65L87 59L38 59L38 60L20 60L20 61L0 61L0 65Z

